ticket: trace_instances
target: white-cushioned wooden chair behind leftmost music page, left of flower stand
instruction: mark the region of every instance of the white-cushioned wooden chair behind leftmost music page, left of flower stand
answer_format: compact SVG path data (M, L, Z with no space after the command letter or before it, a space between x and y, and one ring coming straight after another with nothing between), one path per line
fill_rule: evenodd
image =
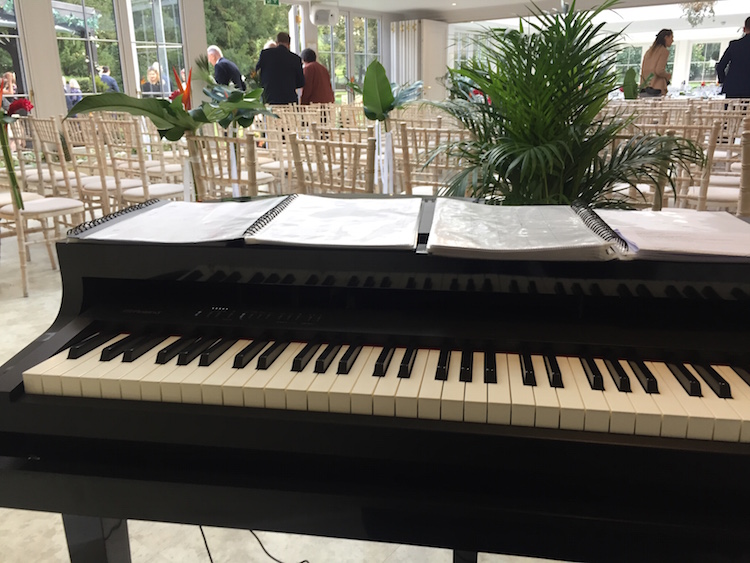
M184 187L181 183L151 182L146 168L143 132L136 120L112 118L105 114L97 115L96 123L107 140L112 172L122 203L133 205L149 199L183 199Z

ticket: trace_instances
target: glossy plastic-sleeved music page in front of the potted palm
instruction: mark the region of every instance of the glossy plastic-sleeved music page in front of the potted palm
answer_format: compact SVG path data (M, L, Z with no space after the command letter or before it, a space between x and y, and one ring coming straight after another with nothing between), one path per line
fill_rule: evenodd
M491 260L609 260L612 244L567 205L484 205L438 198L427 251Z

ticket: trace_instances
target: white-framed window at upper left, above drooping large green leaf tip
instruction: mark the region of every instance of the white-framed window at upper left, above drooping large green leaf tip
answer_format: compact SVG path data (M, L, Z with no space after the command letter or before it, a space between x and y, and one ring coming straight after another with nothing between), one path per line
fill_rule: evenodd
M99 78L103 66L122 88L113 0L56 2L52 15L68 107L83 94L107 90Z

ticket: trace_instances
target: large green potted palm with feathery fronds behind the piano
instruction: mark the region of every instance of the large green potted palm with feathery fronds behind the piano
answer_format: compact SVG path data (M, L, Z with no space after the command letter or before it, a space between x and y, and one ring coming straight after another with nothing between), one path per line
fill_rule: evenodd
M623 186L672 187L674 169L702 162L688 140L624 136L630 119L602 110L618 87L621 33L596 18L616 3L567 13L534 10L520 29L488 29L477 55L449 69L438 102L472 133L441 148L463 168L447 195L503 205L623 205ZM657 194L657 197L659 194Z

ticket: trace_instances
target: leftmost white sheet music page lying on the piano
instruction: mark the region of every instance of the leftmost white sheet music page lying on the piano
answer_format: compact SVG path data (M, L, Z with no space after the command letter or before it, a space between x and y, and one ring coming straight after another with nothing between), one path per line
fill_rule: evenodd
M245 230L283 197L252 201L170 201L115 217L82 233L86 239L196 243L242 239Z

